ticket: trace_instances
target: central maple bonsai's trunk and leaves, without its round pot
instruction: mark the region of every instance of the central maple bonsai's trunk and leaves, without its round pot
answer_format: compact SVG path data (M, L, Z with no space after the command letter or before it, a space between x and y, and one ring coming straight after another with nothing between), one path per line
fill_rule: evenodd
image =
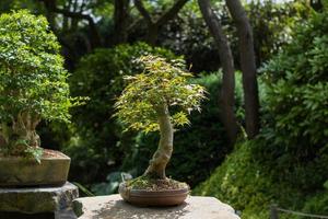
M160 131L159 148L143 176L167 180L165 169L173 152L174 131L189 124L188 113L200 111L204 89L188 83L192 74L184 70L181 60L168 62L161 57L143 56L138 61L144 71L126 77L128 85L116 102L115 115L127 129Z

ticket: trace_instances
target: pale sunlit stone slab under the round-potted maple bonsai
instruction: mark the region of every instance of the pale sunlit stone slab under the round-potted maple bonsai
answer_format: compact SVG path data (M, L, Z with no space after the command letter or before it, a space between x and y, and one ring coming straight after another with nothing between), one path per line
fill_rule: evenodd
M213 197L189 196L176 207L143 208L125 203L119 195L78 198L79 219L239 219L234 209Z

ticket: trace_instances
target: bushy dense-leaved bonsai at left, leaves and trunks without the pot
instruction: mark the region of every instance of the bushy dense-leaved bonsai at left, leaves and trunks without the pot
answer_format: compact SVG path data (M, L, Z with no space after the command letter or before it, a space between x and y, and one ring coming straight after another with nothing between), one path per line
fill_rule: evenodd
M2 155L37 160L43 150L36 127L42 119L68 122L68 72L60 46L43 16L26 10L0 16L0 137Z

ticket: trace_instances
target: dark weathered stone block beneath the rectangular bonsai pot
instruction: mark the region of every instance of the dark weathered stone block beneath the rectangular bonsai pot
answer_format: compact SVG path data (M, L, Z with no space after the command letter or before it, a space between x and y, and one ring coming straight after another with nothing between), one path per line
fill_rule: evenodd
M79 189L71 183L60 187L0 188L0 211L55 212L67 209L78 197Z

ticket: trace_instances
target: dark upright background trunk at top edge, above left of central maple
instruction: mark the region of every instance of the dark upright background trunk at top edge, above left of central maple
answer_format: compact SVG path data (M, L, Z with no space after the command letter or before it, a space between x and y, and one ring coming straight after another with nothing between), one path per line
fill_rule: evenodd
M114 44L126 43L128 39L130 0L115 0Z

